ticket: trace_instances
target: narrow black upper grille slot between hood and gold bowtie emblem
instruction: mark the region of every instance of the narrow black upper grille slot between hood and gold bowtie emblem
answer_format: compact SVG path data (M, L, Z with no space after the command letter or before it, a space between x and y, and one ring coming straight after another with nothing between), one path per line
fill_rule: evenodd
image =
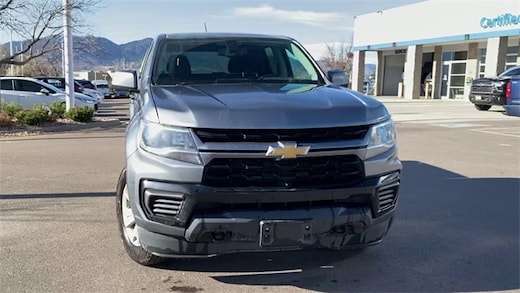
M308 129L211 129L197 128L202 142L322 142L362 139L369 125Z

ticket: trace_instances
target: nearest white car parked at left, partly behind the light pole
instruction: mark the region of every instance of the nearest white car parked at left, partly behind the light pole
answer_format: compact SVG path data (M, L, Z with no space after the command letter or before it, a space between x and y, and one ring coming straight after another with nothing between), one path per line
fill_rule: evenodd
M30 77L0 77L0 100L14 102L24 108L34 105L50 105L56 101L65 102L66 94L59 88ZM90 96L74 93L75 106L98 109L98 103Z

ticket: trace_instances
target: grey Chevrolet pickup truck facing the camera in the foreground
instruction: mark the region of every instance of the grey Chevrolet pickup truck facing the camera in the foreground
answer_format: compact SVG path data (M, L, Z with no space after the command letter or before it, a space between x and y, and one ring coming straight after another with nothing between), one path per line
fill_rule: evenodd
M117 186L129 256L381 242L402 168L394 122L333 73L292 38L215 33L160 35L138 72L113 73L130 92Z

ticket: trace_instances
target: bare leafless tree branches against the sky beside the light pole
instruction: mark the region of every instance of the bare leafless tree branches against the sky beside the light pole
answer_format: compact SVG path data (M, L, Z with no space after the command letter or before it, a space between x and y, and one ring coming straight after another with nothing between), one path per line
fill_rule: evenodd
M99 0L69 0L74 33L86 27L82 16L98 3ZM0 57L0 66L23 65L61 50L65 8L61 0L0 0L0 29L24 40L20 51Z

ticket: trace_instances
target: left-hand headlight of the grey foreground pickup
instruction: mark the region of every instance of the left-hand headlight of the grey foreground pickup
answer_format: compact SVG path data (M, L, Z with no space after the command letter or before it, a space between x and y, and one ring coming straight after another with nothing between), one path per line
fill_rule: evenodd
M202 164L193 136L187 128L143 122L140 146L161 157Z

